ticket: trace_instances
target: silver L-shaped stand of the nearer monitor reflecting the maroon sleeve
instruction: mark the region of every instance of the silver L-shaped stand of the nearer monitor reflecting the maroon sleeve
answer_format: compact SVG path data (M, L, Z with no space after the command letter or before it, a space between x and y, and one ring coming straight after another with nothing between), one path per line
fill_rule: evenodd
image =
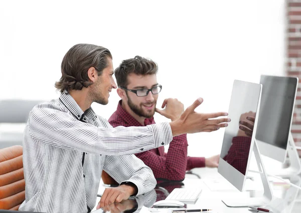
M267 175L265 173L264 166L262 164L260 152L258 150L256 139L254 139L254 146L253 151L255 155L255 159L257 162L258 170L256 173L260 174L261 181L263 184L263 196L261 197L249 197L249 198L225 198L222 199L222 201L229 207L244 207L244 206L260 206L260 205L266 205L268 204L272 198L273 194L269 185L269 181L267 179ZM248 170L246 172L246 175L248 172L252 172L251 170Z

